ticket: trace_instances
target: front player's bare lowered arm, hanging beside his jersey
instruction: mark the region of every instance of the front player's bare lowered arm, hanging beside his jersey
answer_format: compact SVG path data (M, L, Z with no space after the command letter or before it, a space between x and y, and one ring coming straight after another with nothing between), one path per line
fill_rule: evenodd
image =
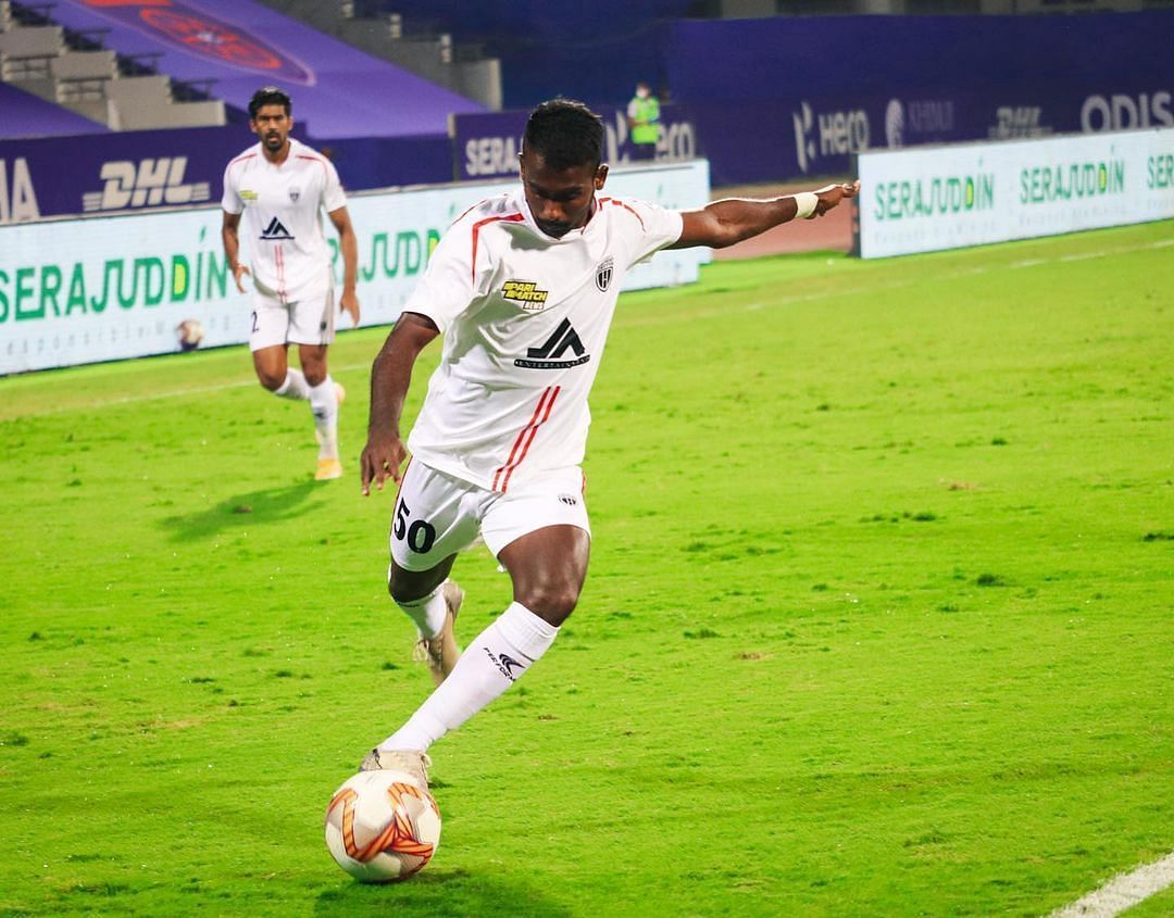
M367 443L359 458L364 494L371 493L372 482L383 491L383 482L389 478L397 484L399 481L399 466L407 455L407 447L399 436L399 418L412 382L412 366L425 345L439 333L432 319L417 312L404 312L375 358Z

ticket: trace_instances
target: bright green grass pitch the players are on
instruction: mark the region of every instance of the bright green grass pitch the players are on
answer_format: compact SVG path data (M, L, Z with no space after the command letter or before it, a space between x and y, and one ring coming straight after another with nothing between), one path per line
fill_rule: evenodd
M1174 849L1174 224L713 265L593 409L582 602L365 887L325 804L431 684L391 495L243 349L0 380L0 914L1040 916Z

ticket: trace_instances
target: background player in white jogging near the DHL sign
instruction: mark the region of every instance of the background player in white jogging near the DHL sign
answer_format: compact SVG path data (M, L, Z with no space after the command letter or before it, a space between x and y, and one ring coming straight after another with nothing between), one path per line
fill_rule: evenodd
M343 387L330 378L326 349L335 339L335 279L330 247L322 231L325 210L338 231L343 295L338 308L359 324L355 295L358 244L346 197L333 163L290 137L290 97L272 86L249 101L249 127L261 140L224 169L221 237L237 290L252 276L249 347L261 385L276 396L306 400L318 439L319 481L339 478L338 406ZM241 215L250 239L251 269L239 259ZM301 372L289 367L286 350L298 346Z

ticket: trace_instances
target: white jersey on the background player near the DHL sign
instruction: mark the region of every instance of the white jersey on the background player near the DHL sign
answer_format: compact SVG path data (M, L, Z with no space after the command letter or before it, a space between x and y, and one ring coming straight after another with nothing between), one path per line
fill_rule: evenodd
M261 143L224 169L221 207L244 211L252 281L282 303L319 297L331 286L330 247L322 231L322 210L345 207L346 196L333 163L290 137L285 162L265 158Z

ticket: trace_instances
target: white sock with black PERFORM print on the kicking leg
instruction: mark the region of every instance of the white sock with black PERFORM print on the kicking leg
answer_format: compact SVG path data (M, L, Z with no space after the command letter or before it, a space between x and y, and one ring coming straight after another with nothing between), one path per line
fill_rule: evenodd
M448 679L380 749L427 749L501 695L554 643L559 629L513 602L470 641Z

